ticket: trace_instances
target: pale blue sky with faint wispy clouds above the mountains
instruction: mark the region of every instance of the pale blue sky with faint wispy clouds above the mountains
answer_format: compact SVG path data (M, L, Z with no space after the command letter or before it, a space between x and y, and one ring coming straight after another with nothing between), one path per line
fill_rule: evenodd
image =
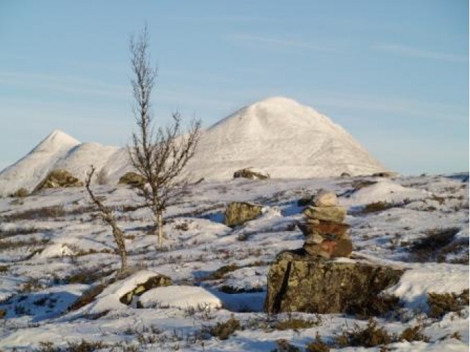
M285 96L395 172L469 171L467 0L2 0L0 169L54 129L126 145L146 23L158 125Z

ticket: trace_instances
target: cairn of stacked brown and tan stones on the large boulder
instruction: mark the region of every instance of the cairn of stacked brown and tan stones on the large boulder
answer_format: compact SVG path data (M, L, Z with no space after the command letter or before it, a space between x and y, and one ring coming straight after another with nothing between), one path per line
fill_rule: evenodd
M303 214L306 221L298 225L306 237L303 249L308 255L325 259L350 256L353 243L349 225L343 223L346 209L339 206L334 192L319 192L314 205L306 207Z

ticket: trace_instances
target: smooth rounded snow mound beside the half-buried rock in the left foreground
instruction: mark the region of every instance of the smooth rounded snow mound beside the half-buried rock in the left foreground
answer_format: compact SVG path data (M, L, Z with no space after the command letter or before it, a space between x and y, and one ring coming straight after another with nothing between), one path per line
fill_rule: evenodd
M195 286L166 286L148 290L139 299L144 308L169 306L173 308L220 308L222 302L212 293Z

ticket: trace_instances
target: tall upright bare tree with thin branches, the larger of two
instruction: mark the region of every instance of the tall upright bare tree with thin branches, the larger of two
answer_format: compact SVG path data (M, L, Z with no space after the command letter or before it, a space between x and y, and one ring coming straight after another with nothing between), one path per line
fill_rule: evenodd
M133 133L129 147L131 164L144 176L147 184L138 188L145 205L149 207L158 227L158 245L162 247L163 213L171 199L178 197L189 184L182 177L187 162L194 156L200 136L200 120L193 119L189 130L182 134L181 116L172 114L166 127L154 129L151 113L151 93L155 85L157 68L152 68L149 58L149 32L131 38L131 65L133 79L133 113L138 131Z

